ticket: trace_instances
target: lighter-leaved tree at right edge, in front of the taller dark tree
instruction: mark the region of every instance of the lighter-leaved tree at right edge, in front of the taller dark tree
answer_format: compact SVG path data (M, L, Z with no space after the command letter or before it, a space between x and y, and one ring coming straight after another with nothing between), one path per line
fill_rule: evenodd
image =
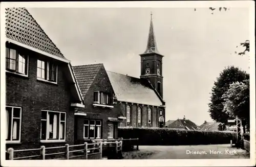
M249 80L234 82L222 96L223 111L231 117L238 116L242 120L245 132L245 125L250 125L250 86Z

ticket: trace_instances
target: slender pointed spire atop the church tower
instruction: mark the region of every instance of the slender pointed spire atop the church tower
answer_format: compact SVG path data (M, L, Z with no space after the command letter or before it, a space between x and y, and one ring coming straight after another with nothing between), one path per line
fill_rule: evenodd
M153 29L153 21L152 21L152 12L151 12L151 21L150 21L150 32L148 33L147 46L145 53L158 53L156 37Z

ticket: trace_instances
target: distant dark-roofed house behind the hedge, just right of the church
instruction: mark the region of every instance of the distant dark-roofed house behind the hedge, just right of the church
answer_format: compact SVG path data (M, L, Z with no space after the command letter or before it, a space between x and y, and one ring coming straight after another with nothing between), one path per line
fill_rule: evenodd
M197 125L190 120L186 120L185 116L183 119L169 120L165 123L165 127L173 129L185 129L185 130L196 130Z

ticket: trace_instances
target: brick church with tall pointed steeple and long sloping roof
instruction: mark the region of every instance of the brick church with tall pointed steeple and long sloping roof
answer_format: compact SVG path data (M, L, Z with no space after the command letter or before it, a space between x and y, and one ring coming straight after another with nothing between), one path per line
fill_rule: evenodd
M157 50L152 15L146 51L140 57L140 78L108 71L122 114L126 117L119 126L164 127L163 55Z

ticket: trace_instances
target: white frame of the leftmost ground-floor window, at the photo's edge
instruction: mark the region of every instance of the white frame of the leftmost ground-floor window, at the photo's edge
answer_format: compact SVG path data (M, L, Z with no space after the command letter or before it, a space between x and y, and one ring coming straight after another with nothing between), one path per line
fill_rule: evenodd
M22 107L16 107L16 106L5 106L5 107L9 107L12 108L11 111L11 136L10 136L10 140L7 140L8 136L6 136L6 143L20 143L21 138L22 138ZM13 140L12 139L12 135L13 135L13 109L14 108L19 108L20 109L20 113L19 113L19 136L18 136L18 140ZM7 116L7 115L6 115ZM7 121L7 120L6 120ZM7 123L7 122L6 122ZM6 127L7 129L7 127ZM7 129L7 132L9 133L9 129Z

